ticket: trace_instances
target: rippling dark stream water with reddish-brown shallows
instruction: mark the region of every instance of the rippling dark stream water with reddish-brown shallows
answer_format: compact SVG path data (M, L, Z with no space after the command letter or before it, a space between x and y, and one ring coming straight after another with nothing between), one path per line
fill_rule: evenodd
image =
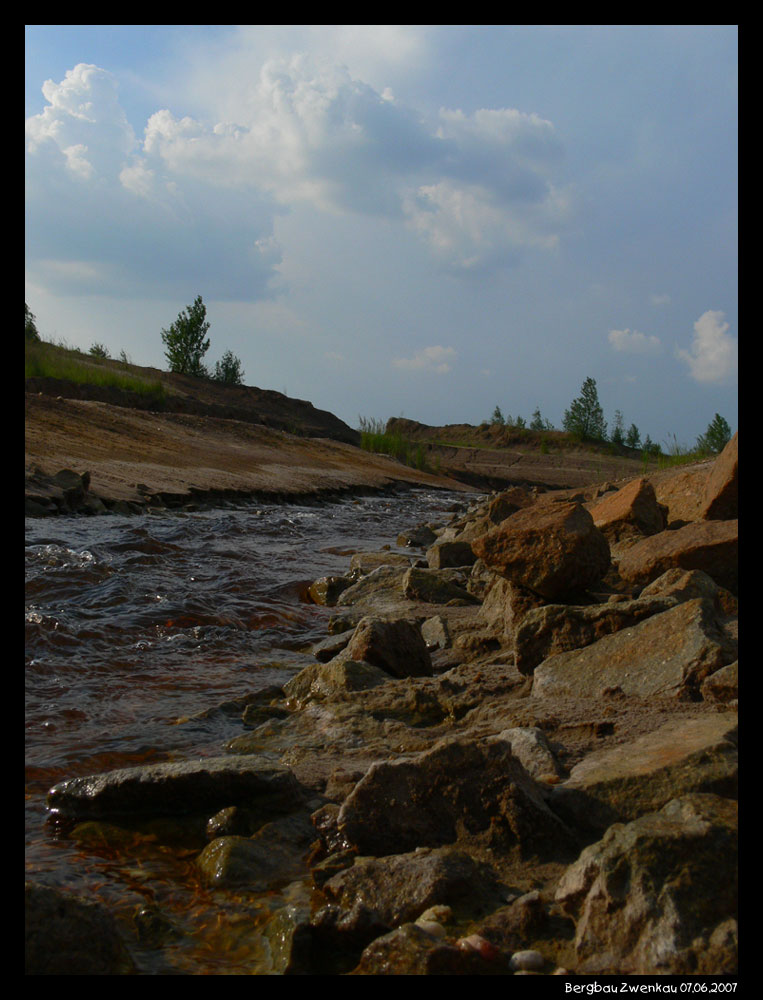
M266 970L257 929L283 899L205 891L198 847L168 847L150 829L58 831L44 796L75 775L219 754L235 722L178 720L292 676L332 613L309 602L309 583L346 572L353 552L394 546L405 528L447 520L454 502L463 496L411 491L28 519L27 877L107 902L149 974ZM177 939L146 944L135 916L145 904L176 921Z

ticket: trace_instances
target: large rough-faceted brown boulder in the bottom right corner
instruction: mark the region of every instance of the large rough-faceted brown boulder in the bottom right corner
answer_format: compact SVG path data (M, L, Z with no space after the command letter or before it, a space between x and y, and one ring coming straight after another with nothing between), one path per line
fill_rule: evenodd
M577 971L698 971L708 939L721 954L727 944L738 906L737 863L737 806L730 799L682 796L611 826L567 869L556 892L576 922ZM736 969L725 951L728 965L714 968L716 975Z

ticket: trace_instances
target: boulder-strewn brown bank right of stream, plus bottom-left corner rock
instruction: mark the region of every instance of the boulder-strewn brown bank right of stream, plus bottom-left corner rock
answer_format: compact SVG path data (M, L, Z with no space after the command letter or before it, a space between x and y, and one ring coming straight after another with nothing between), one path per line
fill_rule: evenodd
M315 581L314 664L226 705L218 757L65 781L51 816L181 817L207 886L289 886L271 974L733 977L737 470L735 436L412 525ZM94 904L27 899L28 974L142 971Z

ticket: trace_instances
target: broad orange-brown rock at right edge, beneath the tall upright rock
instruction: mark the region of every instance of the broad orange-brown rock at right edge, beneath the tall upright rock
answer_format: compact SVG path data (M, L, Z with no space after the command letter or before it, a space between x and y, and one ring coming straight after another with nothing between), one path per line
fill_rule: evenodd
M618 572L623 580L646 586L674 567L701 569L737 594L738 559L737 521L699 521L637 542L623 553Z

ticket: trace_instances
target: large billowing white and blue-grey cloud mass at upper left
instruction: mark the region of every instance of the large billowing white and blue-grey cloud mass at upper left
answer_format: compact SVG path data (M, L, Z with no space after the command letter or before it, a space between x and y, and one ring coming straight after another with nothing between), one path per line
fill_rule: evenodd
M356 65L399 34L388 26L371 44L360 32ZM457 273L558 245L570 199L553 182L551 122L509 108L426 120L326 56L238 66L236 120L160 108L142 136L106 70L80 63L46 81L48 105L27 121L32 275L36 261L100 261L79 269L77 292L187 295L201 281L209 297L267 298L281 261L275 221L298 203L404 223Z

